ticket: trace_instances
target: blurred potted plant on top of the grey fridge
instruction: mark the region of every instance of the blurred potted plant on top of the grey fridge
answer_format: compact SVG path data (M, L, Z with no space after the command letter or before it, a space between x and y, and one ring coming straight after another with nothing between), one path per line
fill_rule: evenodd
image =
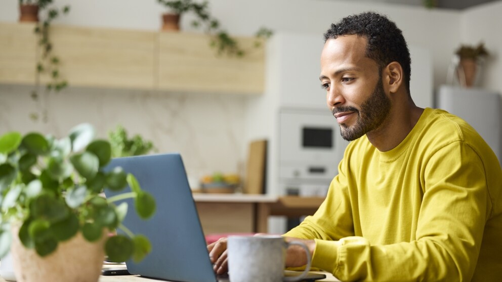
M481 42L478 46L461 45L455 51L455 55L458 57L457 76L459 82L464 87L472 87L481 59L489 55L488 51Z

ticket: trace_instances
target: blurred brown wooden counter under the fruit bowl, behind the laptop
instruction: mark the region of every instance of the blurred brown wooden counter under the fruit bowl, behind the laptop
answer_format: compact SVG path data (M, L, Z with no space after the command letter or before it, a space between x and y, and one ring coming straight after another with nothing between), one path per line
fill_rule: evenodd
M204 234L267 233L268 217L312 215L324 198L194 193Z

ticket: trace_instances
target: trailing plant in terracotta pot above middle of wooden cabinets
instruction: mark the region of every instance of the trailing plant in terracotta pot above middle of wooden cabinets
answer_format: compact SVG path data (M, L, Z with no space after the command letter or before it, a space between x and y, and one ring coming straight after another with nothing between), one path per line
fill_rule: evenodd
M168 13L162 15L163 30L180 30L179 21L183 14L193 12L196 19L192 21L192 26L205 26L205 32L210 35L210 45L217 50L218 55L227 54L230 56L242 57L245 51L242 50L233 37L220 28L220 21L213 17L208 11L207 1L201 4L193 0L157 0L159 4L169 9ZM255 46L259 47L263 39L272 36L272 31L267 28L260 28L256 33Z

